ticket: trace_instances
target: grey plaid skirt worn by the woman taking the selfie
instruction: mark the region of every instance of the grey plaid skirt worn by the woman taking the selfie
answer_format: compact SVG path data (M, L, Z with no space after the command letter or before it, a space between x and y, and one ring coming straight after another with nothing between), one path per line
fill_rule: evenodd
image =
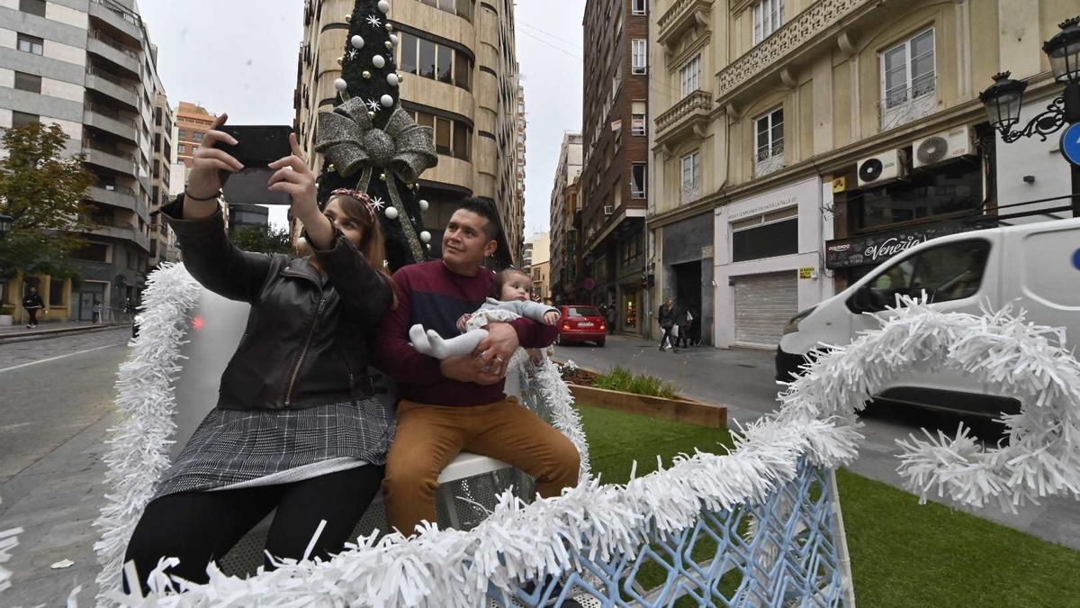
M394 431L392 409L375 397L301 410L214 408L154 498L214 490L298 467L311 472L301 478L313 477L321 473L312 465L340 470L342 459L386 464Z

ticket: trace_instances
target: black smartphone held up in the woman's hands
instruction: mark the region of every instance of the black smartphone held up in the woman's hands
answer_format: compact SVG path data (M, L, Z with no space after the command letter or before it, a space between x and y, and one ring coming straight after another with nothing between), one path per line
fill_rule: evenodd
M221 172L225 200L237 204L291 204L284 193L267 189L274 170L268 164L293 154L288 145L292 127L276 124L225 124L220 131L232 135L238 144L217 142L215 148L229 153L244 169L238 173Z

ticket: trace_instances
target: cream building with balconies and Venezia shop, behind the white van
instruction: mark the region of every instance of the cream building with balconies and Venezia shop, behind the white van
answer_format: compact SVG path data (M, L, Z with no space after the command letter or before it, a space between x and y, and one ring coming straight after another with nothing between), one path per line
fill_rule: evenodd
M1003 159L1022 153L996 141L977 95L1011 69L1031 78L1030 107L1045 105L1041 42L1075 2L651 9L654 292L700 302L706 343L774 348L792 316L907 247L982 225L1038 194L1027 185L1067 194L1052 144L1045 175L1002 184Z

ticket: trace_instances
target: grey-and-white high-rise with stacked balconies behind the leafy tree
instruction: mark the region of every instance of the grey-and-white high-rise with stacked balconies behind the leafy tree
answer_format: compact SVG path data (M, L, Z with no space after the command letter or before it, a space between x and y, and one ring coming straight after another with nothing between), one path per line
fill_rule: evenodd
M4 301L29 286L44 298L45 320L92 320L139 299L150 253L158 159L157 52L134 0L6 0L0 3L0 127L57 123L67 151L86 155L97 183L87 191L97 228L70 263L82 280L16 277ZM16 318L23 310L16 307Z

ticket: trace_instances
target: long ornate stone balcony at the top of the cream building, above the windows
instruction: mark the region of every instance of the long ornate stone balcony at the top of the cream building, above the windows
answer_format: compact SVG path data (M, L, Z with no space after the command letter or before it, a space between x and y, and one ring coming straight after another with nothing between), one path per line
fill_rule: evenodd
M735 96L750 98L759 81L779 72L796 55L833 43L842 28L880 4L877 0L818 0L717 74L717 103L726 106Z

